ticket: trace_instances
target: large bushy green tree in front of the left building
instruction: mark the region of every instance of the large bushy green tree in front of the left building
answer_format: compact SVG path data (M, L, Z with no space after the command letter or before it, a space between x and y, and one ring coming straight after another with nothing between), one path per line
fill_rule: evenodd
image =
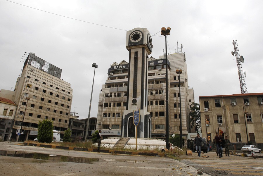
M51 120L39 121L37 139L39 142L46 143L53 141L53 122Z

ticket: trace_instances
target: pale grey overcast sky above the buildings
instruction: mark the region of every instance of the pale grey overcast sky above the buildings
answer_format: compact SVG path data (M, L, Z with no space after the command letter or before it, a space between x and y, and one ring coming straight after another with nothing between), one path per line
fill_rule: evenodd
M183 45L188 85L199 96L239 94L233 51L237 40L248 93L263 92L263 1L68 1L0 0L0 89L13 90L23 68L24 52L62 69L71 84L71 111L87 118L94 68L91 117L97 116L99 93L114 62L129 61L126 31L147 28L153 53L165 49L161 27L171 27L167 53Z

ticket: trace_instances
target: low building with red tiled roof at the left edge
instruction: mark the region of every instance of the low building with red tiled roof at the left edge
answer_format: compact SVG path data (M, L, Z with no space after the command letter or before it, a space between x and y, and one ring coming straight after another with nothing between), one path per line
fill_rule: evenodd
M9 141L17 105L0 97L0 141Z

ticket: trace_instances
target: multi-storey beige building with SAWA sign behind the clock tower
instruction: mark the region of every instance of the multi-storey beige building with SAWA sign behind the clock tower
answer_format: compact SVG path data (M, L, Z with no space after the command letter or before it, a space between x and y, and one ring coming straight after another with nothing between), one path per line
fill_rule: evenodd
M169 54L168 58L168 102L169 102L169 134L180 134L180 104L182 113L182 133L186 139L190 130L190 104L193 99L193 89L188 92L187 66L183 53ZM159 59L150 57L148 60L148 106L147 111L151 116L151 137L165 136L166 117L166 92L165 92L165 56ZM127 103L129 63L113 63L108 70L108 80L103 84L99 96L98 116L96 129L105 131L104 136L121 137L122 115ZM176 69L182 69L180 74L181 95L179 94L179 75ZM186 142L186 140L185 140Z

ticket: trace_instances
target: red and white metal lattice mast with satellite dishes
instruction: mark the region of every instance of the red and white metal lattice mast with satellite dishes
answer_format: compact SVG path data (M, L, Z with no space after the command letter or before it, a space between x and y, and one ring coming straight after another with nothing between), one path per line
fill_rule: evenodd
M234 56L236 56L236 65L238 66L238 76L239 76L241 94L245 94L245 93L248 93L248 90L247 90L247 86L245 83L245 78L244 78L244 74L242 70L242 62L239 57L238 44L236 40L233 40L233 45L234 45L234 51L235 51Z

